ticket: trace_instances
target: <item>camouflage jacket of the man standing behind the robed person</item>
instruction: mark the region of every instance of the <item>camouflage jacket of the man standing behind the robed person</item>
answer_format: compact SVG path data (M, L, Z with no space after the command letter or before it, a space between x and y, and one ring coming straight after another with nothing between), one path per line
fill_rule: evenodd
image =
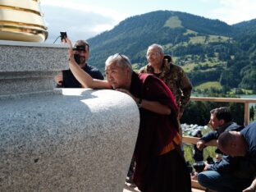
M153 66L148 64L142 67L139 72L154 74ZM181 66L176 66L172 63L171 56L165 56L162 61L162 72L157 76L171 89L180 112L184 112L185 106L190 101L192 91L192 84L187 75L185 75L185 71L183 71Z

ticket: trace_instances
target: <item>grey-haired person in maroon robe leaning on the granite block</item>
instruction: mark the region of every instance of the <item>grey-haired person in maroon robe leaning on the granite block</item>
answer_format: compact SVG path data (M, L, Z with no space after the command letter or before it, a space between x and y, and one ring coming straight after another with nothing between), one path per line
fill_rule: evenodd
M190 173L181 155L178 107L162 80L136 74L128 57L117 53L107 58L107 80L94 80L82 71L69 49L70 68L81 85L116 89L129 94L139 107L139 134L135 144L135 185L144 192L191 191ZM125 178L124 178L125 179Z

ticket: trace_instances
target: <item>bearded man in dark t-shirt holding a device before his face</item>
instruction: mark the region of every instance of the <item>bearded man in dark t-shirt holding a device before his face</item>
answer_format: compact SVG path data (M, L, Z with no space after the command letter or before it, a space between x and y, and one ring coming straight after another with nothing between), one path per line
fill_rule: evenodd
M65 40L65 42L64 42ZM63 39L62 42L66 43L66 39ZM74 57L75 62L89 75L94 79L103 80L104 77L100 71L94 66L89 66L87 60L89 58L89 43L84 40L78 40L75 42ZM55 76L55 82L57 88L81 88L82 86L75 79L75 76L72 74L71 70L61 71L60 74Z

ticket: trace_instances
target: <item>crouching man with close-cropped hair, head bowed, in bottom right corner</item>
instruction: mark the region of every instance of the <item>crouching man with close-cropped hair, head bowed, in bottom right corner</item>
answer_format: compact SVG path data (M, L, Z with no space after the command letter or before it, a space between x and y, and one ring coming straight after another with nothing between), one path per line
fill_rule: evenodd
M200 185L223 192L256 190L256 121L239 131L225 131L218 138L222 161L198 175Z

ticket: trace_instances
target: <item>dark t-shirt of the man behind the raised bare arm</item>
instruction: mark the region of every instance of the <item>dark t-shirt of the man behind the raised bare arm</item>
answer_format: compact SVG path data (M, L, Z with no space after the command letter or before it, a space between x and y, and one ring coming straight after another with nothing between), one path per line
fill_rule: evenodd
M104 80L104 77L100 71L94 66L89 66L86 64L84 67L81 67L85 72L91 75L94 79ZM80 82L75 79L75 76L72 74L71 70L62 71L63 82L62 85L57 85L57 88L81 88Z

